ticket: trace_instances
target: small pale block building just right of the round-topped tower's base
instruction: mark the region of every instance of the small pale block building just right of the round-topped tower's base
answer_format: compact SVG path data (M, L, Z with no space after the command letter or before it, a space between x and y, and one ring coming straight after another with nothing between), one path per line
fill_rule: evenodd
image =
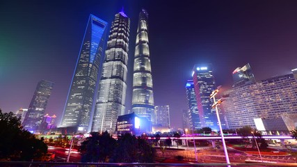
M170 129L170 113L169 106L154 106L154 114L156 121L154 125L158 127L167 127Z

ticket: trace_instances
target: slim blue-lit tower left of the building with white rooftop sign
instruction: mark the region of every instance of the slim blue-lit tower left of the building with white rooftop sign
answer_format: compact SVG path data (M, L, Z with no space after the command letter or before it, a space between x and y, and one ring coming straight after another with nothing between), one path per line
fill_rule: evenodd
M187 115L190 129L201 129L193 80L186 81L186 98L188 100L188 112L185 114Z

